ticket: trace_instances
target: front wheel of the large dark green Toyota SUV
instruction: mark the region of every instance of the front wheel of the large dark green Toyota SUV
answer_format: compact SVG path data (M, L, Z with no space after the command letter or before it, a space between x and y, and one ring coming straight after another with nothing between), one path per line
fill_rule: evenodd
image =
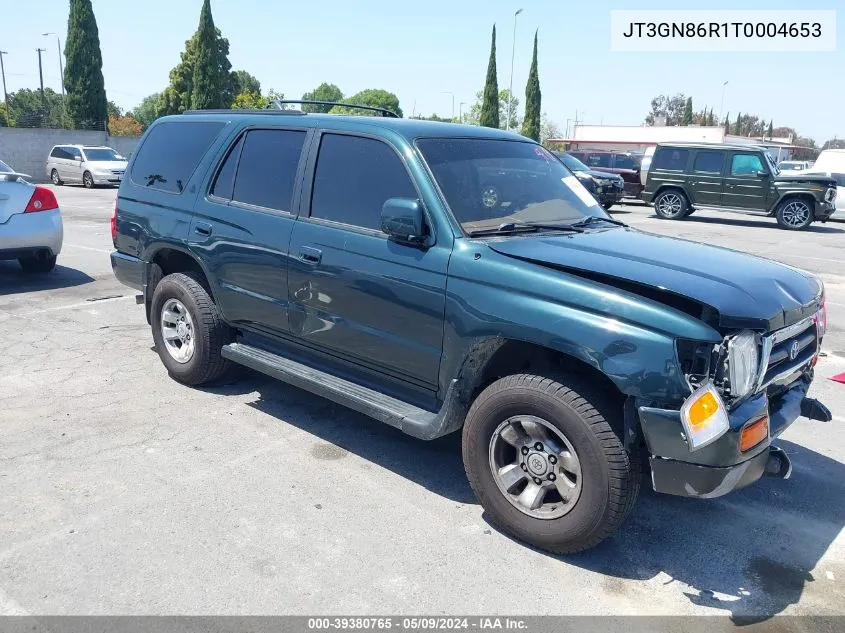
M476 398L463 430L464 468L493 523L526 543L557 554L590 549L616 532L639 493L640 458L639 453L625 451L620 432L611 426L621 428L621 407L614 411L608 404L606 395L572 375L507 376ZM524 438L517 442L522 442L523 448L517 450L504 440L509 433L499 434L515 419L521 420L518 426L534 447L529 451L534 452L524 453ZM542 426L541 437L546 438L541 444L543 451L536 451L537 445L531 444L532 426L534 431ZM558 452L555 445L562 444L567 450ZM510 458L508 450L515 457ZM547 460L550 470L535 467L538 455L554 454L559 457L554 462ZM519 481L508 488L506 478L494 474L494 469L507 471L511 459L522 462L519 468L510 468L510 473L513 479L521 477L524 486ZM508 465L500 469L500 463ZM555 483L548 483L554 473L558 473ZM519 499L532 483L536 490L537 482L555 488L546 488L536 510L520 507ZM568 501L557 492L560 488L572 491L567 493Z

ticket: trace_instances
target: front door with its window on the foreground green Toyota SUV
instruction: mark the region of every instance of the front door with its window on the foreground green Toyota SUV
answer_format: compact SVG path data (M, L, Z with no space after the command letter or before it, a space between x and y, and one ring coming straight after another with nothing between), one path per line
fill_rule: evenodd
M353 371L434 393L451 243L422 249L381 232L387 199L420 198L405 162L381 140L324 132L309 173L290 244L293 335Z

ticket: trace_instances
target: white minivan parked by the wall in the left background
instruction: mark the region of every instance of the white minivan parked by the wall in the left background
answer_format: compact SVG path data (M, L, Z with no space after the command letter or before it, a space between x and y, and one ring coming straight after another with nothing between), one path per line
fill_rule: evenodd
M47 175L54 185L82 183L119 185L126 172L126 159L111 147L56 145L47 157Z

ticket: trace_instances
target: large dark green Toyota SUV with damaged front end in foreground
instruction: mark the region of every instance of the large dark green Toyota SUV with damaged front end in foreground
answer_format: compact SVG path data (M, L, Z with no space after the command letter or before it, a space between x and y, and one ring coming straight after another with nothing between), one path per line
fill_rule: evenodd
M703 498L784 477L774 438L830 418L807 398L818 279L630 229L516 134L165 117L112 234L175 380L244 365L423 440L462 429L488 515L540 548L612 534L643 468L656 490Z

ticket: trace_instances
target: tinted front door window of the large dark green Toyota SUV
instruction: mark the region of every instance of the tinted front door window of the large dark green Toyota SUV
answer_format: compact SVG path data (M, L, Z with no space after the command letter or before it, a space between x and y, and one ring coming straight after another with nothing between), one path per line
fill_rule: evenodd
M325 134L320 142L311 217L379 230L388 198L417 198L405 165L385 143Z

